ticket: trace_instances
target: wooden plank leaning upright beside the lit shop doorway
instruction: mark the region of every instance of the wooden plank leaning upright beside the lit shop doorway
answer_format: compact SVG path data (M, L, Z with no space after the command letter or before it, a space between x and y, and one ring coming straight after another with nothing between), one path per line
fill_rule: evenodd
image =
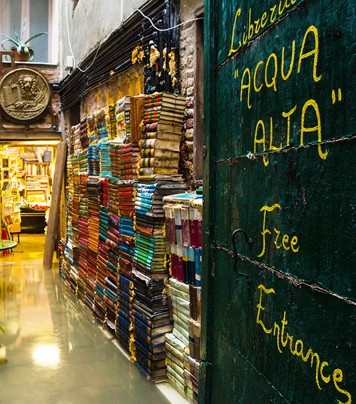
M58 230L61 188L63 182L66 157L67 157L67 143L61 142L57 146L57 158L52 186L51 207L49 211L46 245L43 256L43 267L45 269L52 268L54 245L56 242L56 235Z

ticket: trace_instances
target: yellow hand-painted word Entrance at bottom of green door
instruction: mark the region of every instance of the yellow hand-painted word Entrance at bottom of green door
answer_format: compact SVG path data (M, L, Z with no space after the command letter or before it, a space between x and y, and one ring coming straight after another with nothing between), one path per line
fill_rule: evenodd
M265 296L275 294L276 292L273 288L267 289L262 284L258 286L258 289L260 290L260 299L257 304L256 324L261 326L263 332L275 337L278 352L282 354L284 350L289 350L293 356L300 357L303 362L310 363L310 367L315 366L315 383L318 389L322 390L322 383L328 384L332 380L335 389L345 396L345 401L337 400L337 402L340 404L351 404L351 394L339 386L344 379L342 370L339 368L333 371L328 369L330 367L329 362L323 361L317 352L313 352L311 348L307 349L304 347L304 342L301 339L296 339L286 331L288 321L285 311L283 312L283 319L280 322L274 322L273 326L265 323L263 319L263 311L267 307L267 302L264 301Z

